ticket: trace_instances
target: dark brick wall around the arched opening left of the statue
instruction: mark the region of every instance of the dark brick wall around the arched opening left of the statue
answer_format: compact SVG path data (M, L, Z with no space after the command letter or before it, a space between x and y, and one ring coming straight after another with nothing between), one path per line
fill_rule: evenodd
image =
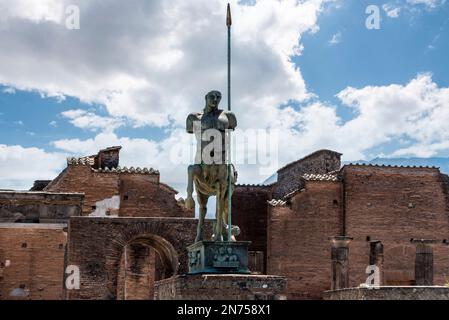
M115 299L120 259L130 243L154 248L170 274L187 272L186 246L194 242L196 225L192 218L72 218L66 264L79 266L81 285L66 298Z

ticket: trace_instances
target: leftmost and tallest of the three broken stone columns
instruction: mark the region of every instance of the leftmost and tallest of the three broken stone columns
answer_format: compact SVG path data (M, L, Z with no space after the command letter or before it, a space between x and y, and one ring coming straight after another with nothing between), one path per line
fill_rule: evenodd
M331 242L331 290L349 287L349 242L346 236L329 237Z

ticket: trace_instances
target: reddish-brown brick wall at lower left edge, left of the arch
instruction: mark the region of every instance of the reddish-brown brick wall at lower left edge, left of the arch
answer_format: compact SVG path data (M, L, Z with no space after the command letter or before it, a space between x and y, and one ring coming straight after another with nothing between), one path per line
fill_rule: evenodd
M0 224L0 300L62 298L64 227Z

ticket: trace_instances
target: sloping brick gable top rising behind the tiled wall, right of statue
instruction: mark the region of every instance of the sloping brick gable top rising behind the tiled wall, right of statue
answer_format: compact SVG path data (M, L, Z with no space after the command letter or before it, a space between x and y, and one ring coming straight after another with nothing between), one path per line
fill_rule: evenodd
M338 152L319 150L279 169L273 196L279 199L297 189L300 178L305 173L318 174L340 170L340 157Z

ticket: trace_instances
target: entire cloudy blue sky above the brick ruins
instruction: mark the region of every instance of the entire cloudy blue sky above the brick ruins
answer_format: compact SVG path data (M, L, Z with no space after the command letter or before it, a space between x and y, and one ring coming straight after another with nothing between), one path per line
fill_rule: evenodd
M64 27L69 3L79 30ZM449 157L448 2L231 3L234 111L242 129L280 130L275 167L321 148L346 161ZM365 26L368 5L380 9L379 30ZM158 168L183 189L185 164L171 151L205 92L225 91L224 7L0 0L0 188L121 144L124 165ZM240 168L240 182L269 176Z

